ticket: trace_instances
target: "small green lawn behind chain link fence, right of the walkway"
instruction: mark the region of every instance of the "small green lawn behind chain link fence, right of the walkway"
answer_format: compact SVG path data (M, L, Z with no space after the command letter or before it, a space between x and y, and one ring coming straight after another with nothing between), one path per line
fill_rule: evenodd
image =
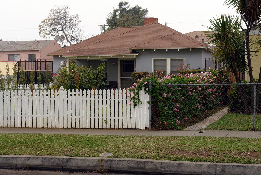
M256 115L256 127L253 128L254 116L245 114L228 113L221 119L207 126L205 129L236 130L236 131L261 131L261 115Z

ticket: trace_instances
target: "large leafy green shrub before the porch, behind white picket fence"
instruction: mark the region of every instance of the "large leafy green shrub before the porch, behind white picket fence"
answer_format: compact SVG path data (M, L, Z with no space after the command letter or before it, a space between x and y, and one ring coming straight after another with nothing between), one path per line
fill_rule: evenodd
M105 63L99 64L98 68L92 70L92 67L86 68L85 66L77 66L75 61L72 60L69 67L60 68L53 75L54 81L52 89L100 89L104 87ZM67 72L67 68L69 71Z

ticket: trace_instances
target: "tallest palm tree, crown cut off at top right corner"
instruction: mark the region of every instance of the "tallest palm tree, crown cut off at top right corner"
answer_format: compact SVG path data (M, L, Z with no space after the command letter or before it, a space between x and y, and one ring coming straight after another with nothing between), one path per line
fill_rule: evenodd
M229 7L236 8L236 12L240 15L242 21L244 21L246 27L241 29L245 32L246 36L246 53L249 70L250 83L253 83L252 64L250 59L250 46L249 46L249 32L255 29L257 26L260 28L261 17L261 1L260 0L226 0L224 4ZM261 29L261 28L260 28ZM261 66L259 71L259 80L261 83ZM260 85L257 86L257 96L260 93ZM256 98L256 105L258 106L259 98ZM251 85L251 103L254 102L254 87Z

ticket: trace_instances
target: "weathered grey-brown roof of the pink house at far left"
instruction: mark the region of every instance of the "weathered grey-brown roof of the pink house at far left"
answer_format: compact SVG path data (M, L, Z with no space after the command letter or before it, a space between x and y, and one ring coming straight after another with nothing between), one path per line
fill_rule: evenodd
M40 50L52 41L0 41L0 51Z

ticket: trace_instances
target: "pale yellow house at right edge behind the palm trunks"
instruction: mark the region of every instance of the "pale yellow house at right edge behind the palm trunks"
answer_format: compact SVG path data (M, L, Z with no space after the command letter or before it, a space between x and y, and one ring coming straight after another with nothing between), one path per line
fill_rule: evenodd
M258 32L258 29L256 30L251 30L249 32L249 41L251 45L251 40L255 40L257 37L261 37L260 33ZM252 49L254 49L256 46L253 44L251 46ZM251 50L250 48L250 50ZM250 53L251 55L251 65L252 65L252 73L253 73L253 78L258 78L259 77L259 70L260 70L260 64L261 64L261 50L259 50L258 52L253 52ZM246 58L247 61L247 58ZM245 73L245 80L249 81L249 73Z

